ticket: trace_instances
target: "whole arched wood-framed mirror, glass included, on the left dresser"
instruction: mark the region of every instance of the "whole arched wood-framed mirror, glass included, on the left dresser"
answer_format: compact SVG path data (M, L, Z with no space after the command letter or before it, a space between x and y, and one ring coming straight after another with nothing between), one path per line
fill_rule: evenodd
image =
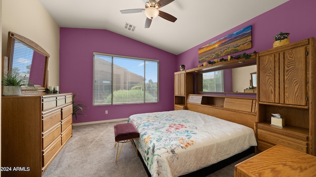
M27 78L29 85L37 88L37 91L47 88L50 56L40 45L22 35L9 32L6 55L7 72L18 71L21 76ZM22 87L22 93L31 90L34 90L34 87Z

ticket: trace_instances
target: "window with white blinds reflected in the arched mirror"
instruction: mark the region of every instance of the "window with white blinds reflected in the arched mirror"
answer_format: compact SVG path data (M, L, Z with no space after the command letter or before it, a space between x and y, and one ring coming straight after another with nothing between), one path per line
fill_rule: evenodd
M33 49L14 40L14 51L12 59L12 70L20 73L22 77L26 78L26 82L29 82L31 65L33 60Z

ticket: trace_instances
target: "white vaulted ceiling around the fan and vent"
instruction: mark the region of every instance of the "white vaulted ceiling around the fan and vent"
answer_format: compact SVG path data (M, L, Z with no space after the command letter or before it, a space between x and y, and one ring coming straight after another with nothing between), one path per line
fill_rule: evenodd
M40 0L60 27L107 29L178 55L288 0L174 0L159 8L161 17L145 29L145 13L121 14L145 8L146 0ZM125 23L136 26L124 29Z

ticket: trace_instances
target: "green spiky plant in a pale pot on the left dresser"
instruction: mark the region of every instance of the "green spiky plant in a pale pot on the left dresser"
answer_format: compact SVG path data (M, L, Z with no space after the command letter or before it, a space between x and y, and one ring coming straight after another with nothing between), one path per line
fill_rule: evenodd
M17 96L21 95L21 86L27 86L27 78L21 76L18 71L12 70L11 72L6 72L2 77L2 94L3 96Z

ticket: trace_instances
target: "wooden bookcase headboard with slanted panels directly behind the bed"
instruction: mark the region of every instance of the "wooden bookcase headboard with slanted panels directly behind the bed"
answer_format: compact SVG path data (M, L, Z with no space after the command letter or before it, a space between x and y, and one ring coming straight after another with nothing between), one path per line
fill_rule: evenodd
M187 109L239 123L256 131L256 98L189 94Z

